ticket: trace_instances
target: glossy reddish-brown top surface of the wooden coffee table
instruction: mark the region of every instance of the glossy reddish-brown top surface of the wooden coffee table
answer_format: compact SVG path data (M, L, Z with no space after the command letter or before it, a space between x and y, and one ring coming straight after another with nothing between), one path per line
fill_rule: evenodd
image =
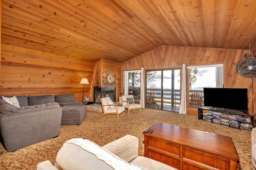
M153 132L143 133L144 136L239 160L233 140L229 136L164 123L156 123L150 129Z

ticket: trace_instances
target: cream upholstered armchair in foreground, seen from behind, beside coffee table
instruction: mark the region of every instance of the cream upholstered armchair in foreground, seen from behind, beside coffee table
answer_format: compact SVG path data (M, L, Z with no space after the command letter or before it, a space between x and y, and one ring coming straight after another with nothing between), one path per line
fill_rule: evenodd
M72 138L64 142L54 165L45 160L37 170L177 170L138 156L138 148L138 138L129 134L102 147L88 139Z

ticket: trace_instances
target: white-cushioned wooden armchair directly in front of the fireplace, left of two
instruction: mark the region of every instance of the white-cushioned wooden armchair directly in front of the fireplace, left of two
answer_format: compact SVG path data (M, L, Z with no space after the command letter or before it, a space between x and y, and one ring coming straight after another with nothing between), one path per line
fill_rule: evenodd
M101 106L102 106L102 111L103 111L103 114L100 116L101 117L104 117L105 115L113 115L113 114L116 114L116 117L117 117L117 120L119 120L119 114L120 113L123 113L124 115L124 107L122 106L118 106L116 105L116 103L114 103L110 97L103 97L100 99L101 101Z

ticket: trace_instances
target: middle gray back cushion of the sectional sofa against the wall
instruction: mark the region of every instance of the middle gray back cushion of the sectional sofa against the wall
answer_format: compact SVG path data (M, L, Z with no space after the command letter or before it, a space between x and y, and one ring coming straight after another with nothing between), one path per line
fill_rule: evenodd
M28 105L30 106L53 102L55 102L54 95L28 96Z

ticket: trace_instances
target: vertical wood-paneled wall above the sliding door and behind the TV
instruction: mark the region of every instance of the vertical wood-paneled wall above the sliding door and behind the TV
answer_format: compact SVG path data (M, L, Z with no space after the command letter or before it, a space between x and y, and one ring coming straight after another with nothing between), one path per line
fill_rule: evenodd
M256 80L241 76L236 72L236 63L244 57L244 53L248 50L241 49L220 49L206 47L183 47L162 45L152 49L142 55L134 57L122 63L121 71L141 69L152 69L162 67L173 67L186 64L192 65L208 65L208 64L224 64L224 87L227 88L248 88L248 107L249 113L256 112ZM254 78L255 79L255 78ZM123 84L123 82L122 82ZM188 82L187 82L188 84ZM252 88L253 87L253 88ZM252 91L253 90L253 91ZM122 88L122 92L124 89ZM225 97L225 96L223 96ZM228 96L226 96L228 102ZM239 100L239 96L238 96ZM252 106L253 103L253 106ZM187 97L188 105L188 97ZM187 113L197 114L197 109L187 107Z

